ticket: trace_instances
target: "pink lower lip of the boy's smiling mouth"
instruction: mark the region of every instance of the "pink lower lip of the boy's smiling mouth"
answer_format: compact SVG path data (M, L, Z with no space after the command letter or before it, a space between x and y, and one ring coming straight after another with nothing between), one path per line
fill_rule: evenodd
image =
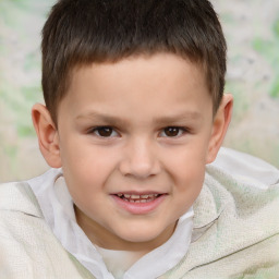
M160 195L151 202L147 203L130 203L117 195L112 195L114 202L124 210L134 215L144 215L154 211L166 198L167 195Z

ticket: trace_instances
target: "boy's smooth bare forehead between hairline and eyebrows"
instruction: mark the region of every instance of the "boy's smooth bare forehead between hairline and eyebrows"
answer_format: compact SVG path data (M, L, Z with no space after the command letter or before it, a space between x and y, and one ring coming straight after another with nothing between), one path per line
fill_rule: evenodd
M174 106L194 110L203 99L210 104L202 66L172 53L157 53L76 68L62 102L73 112L94 106L142 113L143 108L155 111L163 106L165 111Z

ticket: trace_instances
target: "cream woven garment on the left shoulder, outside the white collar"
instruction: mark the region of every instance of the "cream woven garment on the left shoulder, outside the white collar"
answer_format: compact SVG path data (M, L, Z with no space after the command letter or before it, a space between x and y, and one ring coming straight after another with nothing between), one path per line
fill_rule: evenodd
M0 278L94 278L56 239L27 181L0 184Z

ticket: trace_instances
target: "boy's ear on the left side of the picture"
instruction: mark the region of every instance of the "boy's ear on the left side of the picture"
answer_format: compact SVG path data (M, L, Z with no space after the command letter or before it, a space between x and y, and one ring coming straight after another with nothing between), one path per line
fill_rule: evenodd
M61 167L58 130L50 117L48 109L40 104L32 108L32 120L36 130L39 149L52 168Z

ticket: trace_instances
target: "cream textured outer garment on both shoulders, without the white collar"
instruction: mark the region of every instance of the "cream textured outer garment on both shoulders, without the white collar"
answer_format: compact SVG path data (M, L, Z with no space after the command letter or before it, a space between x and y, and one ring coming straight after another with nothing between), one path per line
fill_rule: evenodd
M189 252L161 279L279 278L279 171L220 155L194 204ZM24 182L0 186L0 278L94 278L54 238Z

